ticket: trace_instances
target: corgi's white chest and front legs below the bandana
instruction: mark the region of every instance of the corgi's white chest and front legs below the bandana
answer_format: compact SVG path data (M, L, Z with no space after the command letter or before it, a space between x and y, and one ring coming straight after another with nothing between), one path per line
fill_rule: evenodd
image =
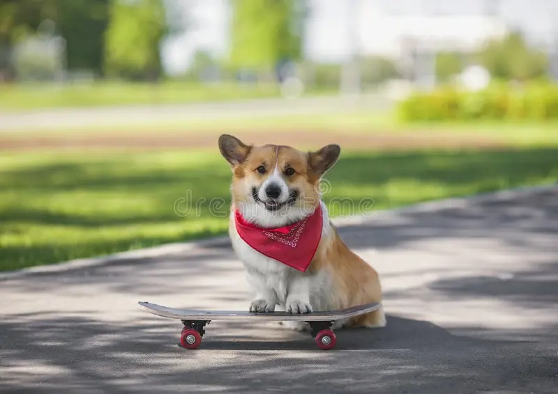
M323 207L323 205L322 205ZM232 219L234 226L234 219ZM324 215L324 233L330 231L329 220ZM251 310L264 312L273 310L278 304L288 312L306 313L328 308L331 278L329 272L309 274L289 267L282 262L262 255L241 239L232 228L232 246L243 262L246 277L255 292Z

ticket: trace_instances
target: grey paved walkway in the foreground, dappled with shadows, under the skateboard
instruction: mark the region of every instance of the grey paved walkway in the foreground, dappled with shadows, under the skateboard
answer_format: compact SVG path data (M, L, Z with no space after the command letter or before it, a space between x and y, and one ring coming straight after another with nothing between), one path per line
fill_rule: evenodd
M391 212L340 230L382 274L386 329L319 351L276 324L202 347L136 308L247 308L228 242L0 281L0 391L558 393L558 187ZM172 251L164 253L165 251Z

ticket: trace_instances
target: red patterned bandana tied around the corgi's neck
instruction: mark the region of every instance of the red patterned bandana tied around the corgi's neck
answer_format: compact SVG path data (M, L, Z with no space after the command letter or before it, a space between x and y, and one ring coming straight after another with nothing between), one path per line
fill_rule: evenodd
M305 272L322 238L322 209L299 222L280 228L262 228L248 223L236 210L236 231L246 244L262 255Z

